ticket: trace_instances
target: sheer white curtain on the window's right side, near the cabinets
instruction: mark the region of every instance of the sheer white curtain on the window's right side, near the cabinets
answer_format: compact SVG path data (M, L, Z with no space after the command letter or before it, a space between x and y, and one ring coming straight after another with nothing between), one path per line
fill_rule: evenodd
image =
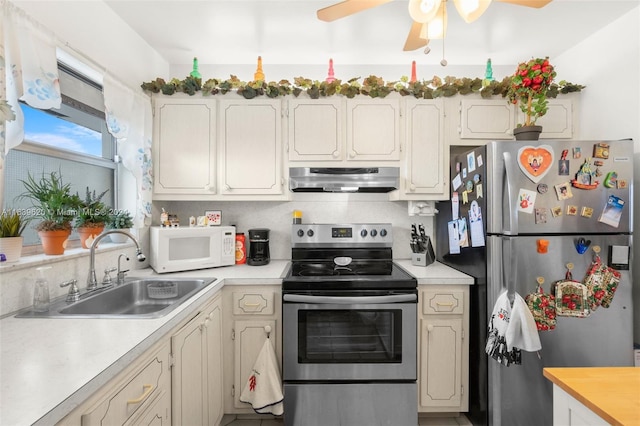
M136 179L136 228L151 224L153 190L151 161L151 100L105 75L103 82L107 128L117 139L122 164Z

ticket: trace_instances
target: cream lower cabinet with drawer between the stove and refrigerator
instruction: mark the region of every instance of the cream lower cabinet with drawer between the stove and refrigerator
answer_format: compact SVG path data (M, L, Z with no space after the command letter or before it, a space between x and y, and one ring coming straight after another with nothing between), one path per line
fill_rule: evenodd
M419 292L418 411L465 412L469 397L467 286L425 286Z

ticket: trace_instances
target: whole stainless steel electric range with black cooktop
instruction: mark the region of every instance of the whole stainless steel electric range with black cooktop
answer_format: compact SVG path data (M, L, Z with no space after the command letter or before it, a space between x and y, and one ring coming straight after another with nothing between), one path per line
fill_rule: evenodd
M296 224L283 279L286 425L415 426L417 281L392 225Z

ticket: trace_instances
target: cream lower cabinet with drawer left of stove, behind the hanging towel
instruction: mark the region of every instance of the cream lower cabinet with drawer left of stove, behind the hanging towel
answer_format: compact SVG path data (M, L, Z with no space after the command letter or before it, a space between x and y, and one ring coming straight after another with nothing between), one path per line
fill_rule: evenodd
M225 307L230 307L223 321L224 412L253 413L251 405L240 402L240 394L266 339L282 365L281 286L229 286L223 289L223 297Z

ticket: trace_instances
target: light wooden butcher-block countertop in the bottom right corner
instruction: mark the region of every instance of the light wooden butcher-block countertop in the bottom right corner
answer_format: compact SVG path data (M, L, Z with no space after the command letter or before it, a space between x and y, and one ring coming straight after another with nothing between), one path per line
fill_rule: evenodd
M640 424L640 368L545 368L543 374L608 423Z

